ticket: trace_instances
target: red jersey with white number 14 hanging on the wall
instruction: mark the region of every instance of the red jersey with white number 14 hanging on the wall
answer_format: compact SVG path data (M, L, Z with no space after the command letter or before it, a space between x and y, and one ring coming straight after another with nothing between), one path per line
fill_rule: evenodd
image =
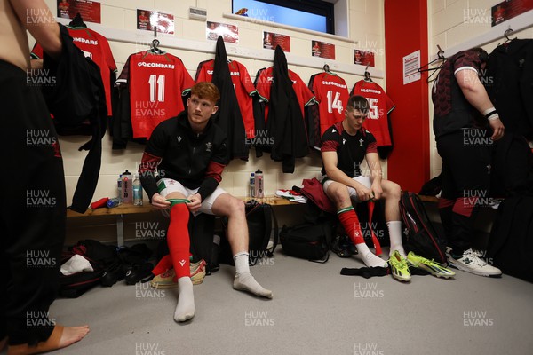
M322 72L311 76L309 89L318 101L320 114L320 137L333 124L344 120L344 110L350 94L343 78ZM319 139L320 139L319 137Z

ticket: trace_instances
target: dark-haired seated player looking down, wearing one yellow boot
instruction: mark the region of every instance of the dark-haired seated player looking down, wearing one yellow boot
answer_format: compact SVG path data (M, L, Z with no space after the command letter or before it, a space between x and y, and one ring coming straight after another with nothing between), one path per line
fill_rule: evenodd
M362 128L369 108L367 99L352 96L346 104L345 119L322 135L322 174L326 175L322 180L323 189L335 203L339 221L367 266L384 267L386 261L365 244L353 203L385 200L385 219L391 239L389 265L395 279L409 281L409 265L402 245L401 188L382 178L376 138ZM361 175L363 159L368 163L370 177Z

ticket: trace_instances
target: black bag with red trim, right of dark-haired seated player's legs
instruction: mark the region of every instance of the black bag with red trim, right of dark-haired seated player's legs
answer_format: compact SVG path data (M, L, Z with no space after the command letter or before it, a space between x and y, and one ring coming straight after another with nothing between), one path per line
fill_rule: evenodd
M440 264L447 264L445 242L439 236L427 217L424 204L416 193L402 192L400 214L404 225L403 248L418 256L433 259Z

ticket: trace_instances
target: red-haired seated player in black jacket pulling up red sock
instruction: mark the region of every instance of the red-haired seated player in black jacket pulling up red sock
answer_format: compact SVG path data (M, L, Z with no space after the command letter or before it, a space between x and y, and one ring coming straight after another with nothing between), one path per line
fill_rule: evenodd
M171 209L167 233L172 264L178 278L179 300L174 320L195 316L190 279L189 211L228 217L227 238L235 261L233 287L272 298L249 268L248 227L244 203L219 187L222 170L229 162L227 137L211 121L219 107L220 93L213 83L197 83L187 99L187 110L155 127L148 141L139 176L155 209ZM155 179L155 173L161 177Z

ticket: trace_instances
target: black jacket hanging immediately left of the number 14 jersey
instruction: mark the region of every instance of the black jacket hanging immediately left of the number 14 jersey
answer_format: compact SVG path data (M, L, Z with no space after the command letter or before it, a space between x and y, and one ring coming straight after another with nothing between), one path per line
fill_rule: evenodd
M306 156L309 148L306 124L292 88L287 58L279 45L274 51L274 83L270 91L267 130L274 141L272 159L282 162L284 173L293 173L296 158Z

